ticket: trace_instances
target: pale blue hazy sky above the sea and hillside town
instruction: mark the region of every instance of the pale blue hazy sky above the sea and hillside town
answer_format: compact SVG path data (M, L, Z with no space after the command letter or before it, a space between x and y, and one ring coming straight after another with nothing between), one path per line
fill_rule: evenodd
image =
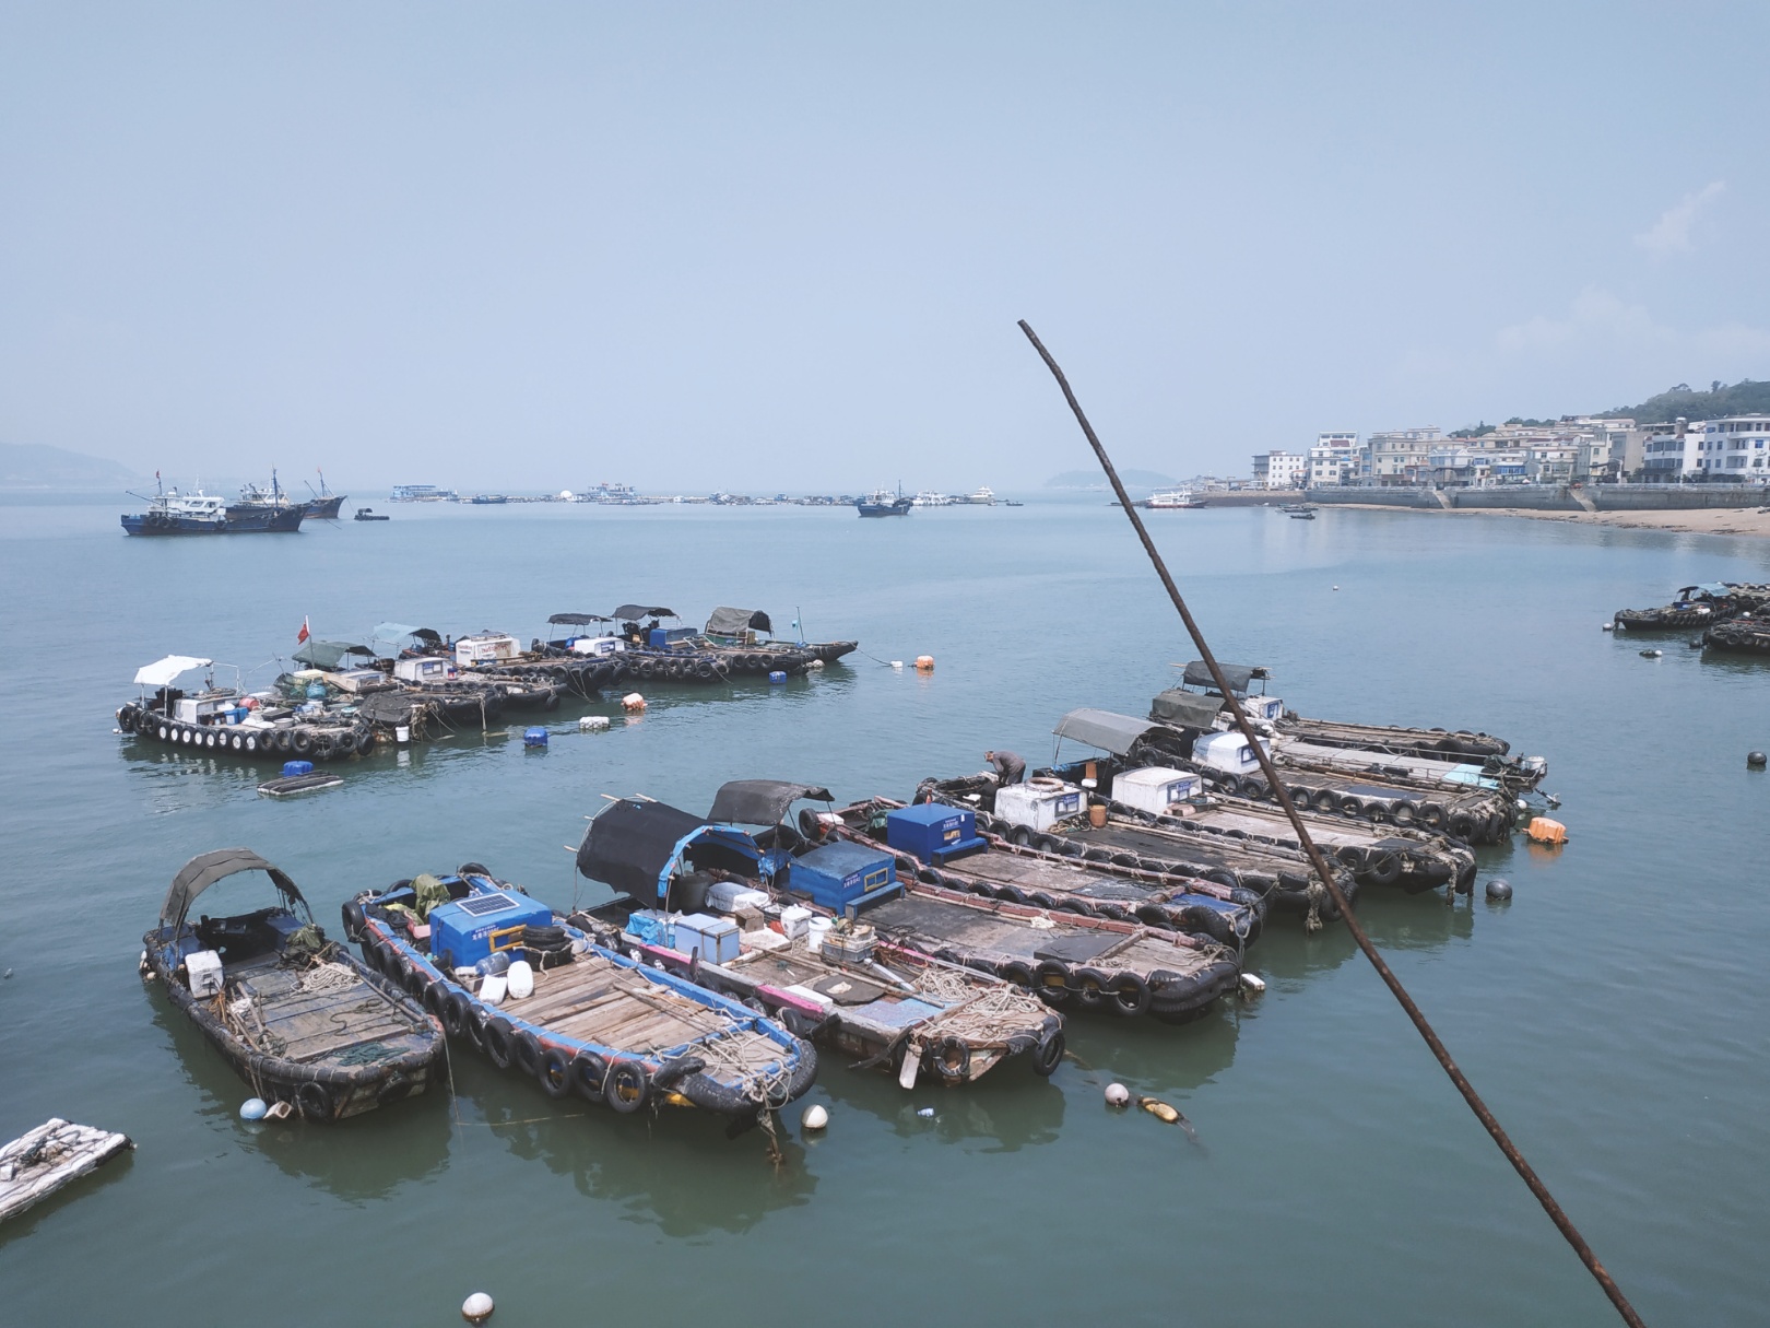
M0 441L1248 471L1770 377L1770 5L0 4Z

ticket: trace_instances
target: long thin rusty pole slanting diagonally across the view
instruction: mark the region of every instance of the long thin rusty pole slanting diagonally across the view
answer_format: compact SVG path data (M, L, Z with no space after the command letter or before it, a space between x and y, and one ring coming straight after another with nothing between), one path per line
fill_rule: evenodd
M1081 402L1078 402L1076 393L1071 391L1069 379L1064 377L1064 370L1057 367L1057 361L1051 359L1051 352L1044 349L1044 342L1039 340L1037 333L1032 331L1025 319L1020 320L1020 329L1027 333L1027 340L1032 342L1032 349L1039 352L1039 358L1044 359L1044 367L1050 368L1051 377L1057 379L1057 386L1064 390L1064 400L1069 402L1069 409L1076 414L1076 423L1081 425L1081 432L1087 436L1089 446L1094 448L1094 455L1099 460L1101 469L1106 471L1106 480L1119 496L1119 505L1124 508L1124 513L1131 519L1131 528L1136 531L1136 538L1143 542L1143 552L1147 552L1149 561L1156 565L1156 575L1161 577L1161 584L1166 588L1168 598L1174 600L1174 607L1179 611L1181 622L1186 623L1186 632L1193 637L1193 645L1198 646L1198 657L1205 662L1205 668L1211 669L1211 680L1223 694L1223 699L1235 719L1235 728L1241 730L1241 735L1248 740L1248 747L1253 751L1255 760L1260 763L1260 772L1266 776L1266 786L1273 790L1273 797L1278 799L1278 806L1285 809L1285 816L1290 818L1290 827L1297 832L1297 839L1303 841L1303 850L1308 853L1310 864L1315 868L1315 875L1320 876L1322 885L1328 887L1333 901L1340 907L1340 914L1345 917L1345 930L1352 933L1352 940L1356 940L1358 947L1365 951L1365 958L1370 960L1370 967L1377 970L1377 976L1382 977L1384 984L1402 1004L1402 1009L1407 1011L1407 1018L1412 1020L1414 1029L1418 1029L1420 1036L1425 1038L1427 1046L1432 1048L1432 1055L1437 1057L1444 1073L1450 1075L1450 1082L1457 1085L1462 1100L1469 1103L1469 1110L1474 1112L1474 1117L1481 1123L1487 1133L1492 1135L1499 1151L1506 1154L1506 1162L1512 1163L1512 1169L1517 1170L1517 1174L1529 1186L1531 1193L1536 1195L1536 1202L1543 1206L1549 1220L1554 1222L1566 1243L1574 1247L1574 1254L1579 1255L1579 1261L1586 1264L1586 1270L1598 1280L1598 1286L1604 1287L1604 1294L1611 1298L1611 1305L1614 1305L1616 1312L1623 1316L1623 1323L1630 1324L1630 1328L1646 1328L1641 1316L1635 1314L1635 1307L1628 1303L1621 1287L1616 1286L1604 1264L1598 1262L1598 1255L1591 1252L1586 1238L1579 1234L1579 1227L1574 1225L1574 1220L1561 1209L1561 1204L1556 1202L1554 1195L1549 1193L1549 1186L1543 1185L1531 1163L1524 1160L1517 1144L1512 1142L1510 1135L1506 1135L1504 1128L1501 1128L1499 1121L1487 1108L1487 1103L1481 1101L1481 1094L1474 1091L1474 1084L1471 1084L1467 1075L1457 1068L1457 1062L1444 1048L1444 1043L1439 1041L1437 1032L1434 1032L1432 1025L1427 1022L1425 1013L1421 1013L1420 1006L1414 1004L1414 999L1407 995L1407 988L1402 986L1402 979L1389 970L1382 954L1377 953L1370 937L1365 935L1365 928L1352 912L1352 901L1340 892L1340 885L1328 869L1328 862L1322 859L1320 848L1315 846L1315 839L1310 838L1308 827L1303 823L1296 806L1290 802L1290 793L1278 777L1278 770L1273 767L1273 758L1260 745L1260 735L1253 731L1253 724L1248 722L1248 714L1241 708L1241 701L1235 698L1234 689L1230 689L1228 682L1223 678L1223 669L1218 666L1216 655L1211 653L1211 646L1205 645L1205 636L1198 630L1198 623L1193 622L1193 614L1186 607L1186 600L1181 597L1181 588L1174 584L1174 577L1168 574L1168 565L1156 551L1154 540L1149 538L1149 528L1143 526L1143 519L1136 515L1136 508L1131 505L1131 496L1124 490L1124 483L1119 480L1119 471L1113 469L1112 459L1106 455L1106 448L1094 432L1094 425L1090 425L1087 414L1081 413Z

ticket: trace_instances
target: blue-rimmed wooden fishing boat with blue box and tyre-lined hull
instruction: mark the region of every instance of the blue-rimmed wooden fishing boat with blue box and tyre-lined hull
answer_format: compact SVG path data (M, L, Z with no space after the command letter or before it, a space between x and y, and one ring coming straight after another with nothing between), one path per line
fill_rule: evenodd
M345 933L448 1036L549 1098L699 1107L758 1124L818 1073L811 1043L731 997L600 944L478 862L359 894ZM586 930L586 926L589 930Z

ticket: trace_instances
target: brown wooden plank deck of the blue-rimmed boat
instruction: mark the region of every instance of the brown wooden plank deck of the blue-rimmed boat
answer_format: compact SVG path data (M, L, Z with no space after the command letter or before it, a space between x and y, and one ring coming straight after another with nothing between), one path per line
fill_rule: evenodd
M786 1050L733 1015L703 1006L634 969L584 954L575 963L535 974L535 995L504 1009L559 1038L614 1052L658 1055L683 1043L719 1041L724 1057L763 1069Z

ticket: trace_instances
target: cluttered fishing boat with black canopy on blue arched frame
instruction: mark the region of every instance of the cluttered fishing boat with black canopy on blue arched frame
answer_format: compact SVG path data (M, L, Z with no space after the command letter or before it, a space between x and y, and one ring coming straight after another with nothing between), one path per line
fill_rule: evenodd
M750 802L736 806L735 795ZM811 910L786 914L756 889L766 850L727 818L758 815L759 799L761 815L779 820L800 795L828 797L773 781L727 784L710 820L662 802L611 802L577 862L618 894L588 915L609 928L609 944L758 1004L802 1038L892 1069L904 1087L919 1073L968 1084L1018 1055L1039 1075L1057 1069L1062 1020L1028 992L894 944L867 923L812 928Z

